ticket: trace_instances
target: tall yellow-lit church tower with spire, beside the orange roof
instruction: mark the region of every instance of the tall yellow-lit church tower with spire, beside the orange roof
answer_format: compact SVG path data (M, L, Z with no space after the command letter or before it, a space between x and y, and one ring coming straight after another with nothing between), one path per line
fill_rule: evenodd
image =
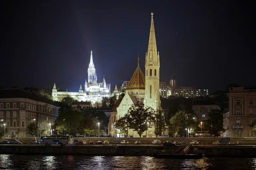
M153 12L151 12L151 27L148 42L148 52L145 58L145 105L153 109L161 109L159 95L160 59L154 30Z

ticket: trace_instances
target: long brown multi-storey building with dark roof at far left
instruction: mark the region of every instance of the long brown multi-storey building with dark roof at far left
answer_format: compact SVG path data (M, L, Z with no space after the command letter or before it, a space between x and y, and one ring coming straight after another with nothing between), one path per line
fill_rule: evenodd
M0 126L6 127L6 137L14 133L18 137L28 137L26 127L35 122L40 136L41 130L50 134L50 125L58 117L57 104L36 92L21 89L0 89ZM20 130L17 134L16 132Z

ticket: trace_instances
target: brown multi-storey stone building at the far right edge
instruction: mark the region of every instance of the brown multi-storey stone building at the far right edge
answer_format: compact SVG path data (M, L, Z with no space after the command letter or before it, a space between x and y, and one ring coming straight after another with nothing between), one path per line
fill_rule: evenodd
M254 137L250 125L256 120L256 86L233 87L229 96L229 112L224 113L225 137Z

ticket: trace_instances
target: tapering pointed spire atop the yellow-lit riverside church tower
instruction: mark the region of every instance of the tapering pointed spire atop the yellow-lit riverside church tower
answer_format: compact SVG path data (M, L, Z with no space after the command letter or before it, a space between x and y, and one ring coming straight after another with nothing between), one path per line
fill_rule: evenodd
M151 12L151 26L150 26L150 34L149 34L149 41L148 41L148 53L146 57L145 65L158 65L158 58L157 58L157 42L154 30L154 20L153 20L153 12Z

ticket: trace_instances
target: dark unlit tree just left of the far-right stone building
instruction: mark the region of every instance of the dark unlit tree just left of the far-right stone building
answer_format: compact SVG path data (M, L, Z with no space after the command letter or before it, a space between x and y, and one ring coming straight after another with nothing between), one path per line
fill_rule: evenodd
M223 112L221 110L212 109L208 116L205 128L211 135L218 136L220 131L225 132L223 128Z

